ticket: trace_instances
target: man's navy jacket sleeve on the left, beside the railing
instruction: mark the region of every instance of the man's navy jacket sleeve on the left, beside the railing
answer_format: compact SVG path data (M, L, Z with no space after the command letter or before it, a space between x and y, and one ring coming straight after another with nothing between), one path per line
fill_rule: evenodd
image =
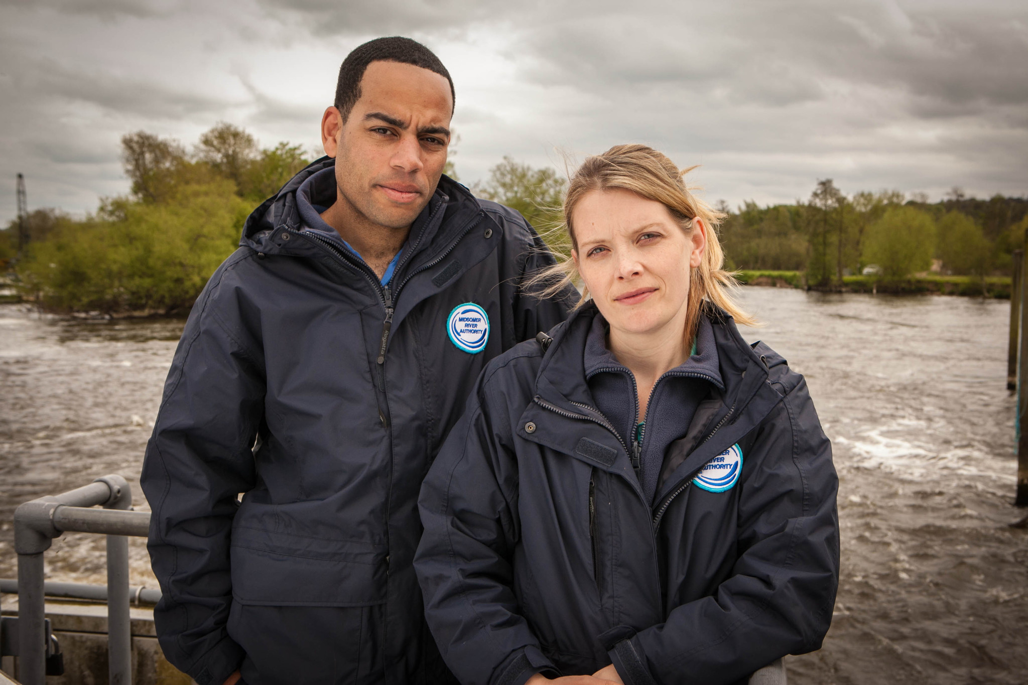
M229 536L236 497L254 486L251 448L264 398L262 373L238 328L224 324L232 307L217 301L214 280L175 353L140 478L162 593L154 609L160 647L199 685L221 685L244 656L225 627Z

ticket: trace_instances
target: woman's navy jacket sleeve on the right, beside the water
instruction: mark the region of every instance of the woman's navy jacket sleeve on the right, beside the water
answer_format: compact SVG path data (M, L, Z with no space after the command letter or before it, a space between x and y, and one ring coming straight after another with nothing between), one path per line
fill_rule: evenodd
M601 636L627 685L731 683L820 647L839 584L838 478L806 381L762 423L750 451L732 576L665 623Z

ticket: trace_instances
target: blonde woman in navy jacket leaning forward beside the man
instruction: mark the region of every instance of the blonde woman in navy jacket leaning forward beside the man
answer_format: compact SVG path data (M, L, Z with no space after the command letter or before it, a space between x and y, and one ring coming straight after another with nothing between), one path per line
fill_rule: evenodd
M464 683L745 683L828 631L831 445L736 330L723 215L684 174L640 145L576 172L590 299L486 367L425 481L414 564Z

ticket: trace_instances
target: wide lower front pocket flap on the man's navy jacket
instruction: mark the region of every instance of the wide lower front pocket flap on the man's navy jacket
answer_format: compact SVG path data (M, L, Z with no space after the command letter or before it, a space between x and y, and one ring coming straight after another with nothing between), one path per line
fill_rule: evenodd
M274 530L276 517L245 517L232 527L232 597L268 606L370 606L386 601L389 548L360 540ZM238 517L237 517L238 518Z

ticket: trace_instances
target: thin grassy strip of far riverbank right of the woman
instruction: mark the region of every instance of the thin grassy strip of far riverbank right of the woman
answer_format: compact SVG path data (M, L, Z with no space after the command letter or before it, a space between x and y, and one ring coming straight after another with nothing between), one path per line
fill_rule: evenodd
M755 271L737 272L737 278L746 286L768 288L799 288L827 293L890 293L893 295L960 295L982 297L983 282L975 276L912 276L898 280L885 280L879 276L843 276L842 288L807 287L802 271ZM1011 299L1009 276L988 276L985 279L985 297L998 300Z

